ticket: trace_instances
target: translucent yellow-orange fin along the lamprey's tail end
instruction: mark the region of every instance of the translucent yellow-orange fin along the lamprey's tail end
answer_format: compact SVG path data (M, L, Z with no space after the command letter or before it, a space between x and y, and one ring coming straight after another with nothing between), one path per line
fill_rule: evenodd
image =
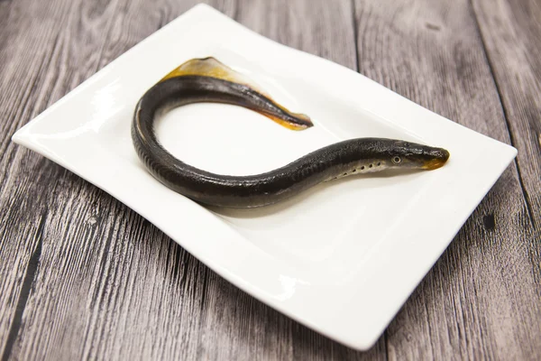
M264 112L258 112L263 116L267 116L271 118L276 123L282 126L285 126L288 129L303 130L313 125L308 116L304 114L300 114L300 113L293 113L289 111L289 109L287 109L285 106L280 106L280 104L274 101L274 99L272 99L272 97L266 91L259 88L259 86L255 84L252 81L252 79L249 79L243 74L234 71L234 69L229 68L224 63L222 63L219 60L216 60L213 57L188 60L182 65L180 65L179 68L176 68L170 71L169 74L167 74L165 77L160 79L160 82L167 79L182 77L186 75L200 75L200 76L211 77L211 78L216 78L216 79L223 79L223 80L231 81L237 84L243 84L249 88L252 88L253 90L260 93L261 95L268 97L275 106L278 106L281 110L288 113L289 116L296 117L302 122L299 124L292 123L284 119L281 119L278 116L272 116Z

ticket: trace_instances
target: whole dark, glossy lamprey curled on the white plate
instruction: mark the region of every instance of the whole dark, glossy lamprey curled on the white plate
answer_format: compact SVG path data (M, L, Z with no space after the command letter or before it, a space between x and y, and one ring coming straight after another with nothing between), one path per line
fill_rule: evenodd
M357 138L328 145L273 171L249 176L215 174L175 158L160 145L154 133L154 119L160 112L197 102L244 106L293 130L313 124L307 116L280 106L249 79L214 58L188 60L171 71L137 104L133 145L157 180L207 205L261 207L347 175L391 168L434 170L449 158L443 148L395 139Z

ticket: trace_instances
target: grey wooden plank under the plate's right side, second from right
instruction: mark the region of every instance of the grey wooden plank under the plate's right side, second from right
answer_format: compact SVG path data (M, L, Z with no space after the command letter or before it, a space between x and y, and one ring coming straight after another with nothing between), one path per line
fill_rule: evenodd
M467 0L357 0L355 8L363 74L509 143ZM390 324L390 358L538 356L539 285L528 255L533 231L513 164Z

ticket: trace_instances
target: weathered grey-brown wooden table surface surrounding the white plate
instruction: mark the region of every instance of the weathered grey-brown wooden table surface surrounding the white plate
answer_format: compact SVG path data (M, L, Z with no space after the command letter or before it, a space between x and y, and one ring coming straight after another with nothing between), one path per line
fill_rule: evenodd
M540 359L541 2L209 2L518 148L365 353L254 300L104 191L10 141L196 3L0 1L2 359Z

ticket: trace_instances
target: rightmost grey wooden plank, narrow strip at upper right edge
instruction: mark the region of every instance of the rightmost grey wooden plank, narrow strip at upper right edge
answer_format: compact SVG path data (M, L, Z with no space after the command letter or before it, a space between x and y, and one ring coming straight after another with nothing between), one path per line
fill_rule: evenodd
M541 283L541 5L532 0L473 1L473 9L518 149L519 177L536 226L530 256Z

